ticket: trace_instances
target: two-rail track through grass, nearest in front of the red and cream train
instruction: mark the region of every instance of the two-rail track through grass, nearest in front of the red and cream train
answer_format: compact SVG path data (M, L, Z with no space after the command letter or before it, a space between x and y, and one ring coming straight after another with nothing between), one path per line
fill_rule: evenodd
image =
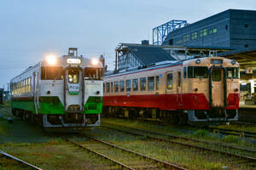
M110 126L115 126L115 127L118 126L119 128L105 126L104 124L105 125L107 124L107 125L110 125ZM237 157L237 158L242 159L242 160L256 162L256 157L253 157L253 156L255 156L256 150L243 149L243 148L240 148L240 147L235 147L235 146L230 146L230 145L223 145L223 144L218 144L217 143L218 145L223 146L225 148L228 148L230 150L247 151L247 152L250 153L250 155L253 155L253 156L243 156L243 155L239 155L239 154L233 154L233 153L230 153L230 152L227 152L227 151L224 151L224 150L217 150L217 149L207 148L207 147L203 147L203 146L199 146L199 145L195 145L195 144L187 144L187 143L184 143L184 142L175 141L173 139L183 139L183 140L192 141L192 142L195 142L195 143L216 144L216 143L212 143L212 142L210 143L210 142L207 142L207 141L201 141L201 140L196 140L196 139L188 139L188 138L178 137L178 136L165 134L165 133L155 133L155 132L152 132L152 131L137 129L137 128L134 128L134 127L119 126L119 125L115 125L115 124L112 124L112 123L105 123L105 122L102 123L102 127L112 129L112 130L116 130L116 131L123 132L123 133L130 133L130 134L133 134L133 135L144 136L147 139L154 139L154 140L159 140L159 141L172 143L172 144L181 144L183 146L186 146L186 147L189 147L189 148L195 148L197 150L207 150L207 151L223 154L223 155L226 155L226 156ZM129 130L125 130L124 128L129 129ZM138 132L142 132L142 133L138 133ZM152 134L154 136L152 136ZM155 135L159 135L161 137L160 138L155 137ZM167 137L168 139L163 139L162 137Z

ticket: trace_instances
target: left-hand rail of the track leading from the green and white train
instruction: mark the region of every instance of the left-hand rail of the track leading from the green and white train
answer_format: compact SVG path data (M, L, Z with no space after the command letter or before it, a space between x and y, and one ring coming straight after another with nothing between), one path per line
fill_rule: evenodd
M71 139L66 139L66 140L67 140L67 142L69 142L69 143L71 143L71 144L75 144L76 146L79 146L79 148L82 148L83 150L88 150L88 151L90 151L90 152L96 154L97 156L102 156L103 158L105 158L105 159L107 159L107 160L109 160L109 161L112 161L112 162L118 164L118 165L121 166L121 167L124 167L124 168L126 168L126 169L135 170L133 167L129 167L129 166L127 166L127 165L125 165L125 164L123 164L123 163L121 163L121 162L119 162L119 161L113 160L112 158L110 158L110 157L108 157L108 156L104 156L103 154L101 154L101 153L99 153L99 152L97 152L97 151L95 151L95 150L90 150L89 148L83 146L82 144L78 144L78 143L74 142L74 141L71 140Z

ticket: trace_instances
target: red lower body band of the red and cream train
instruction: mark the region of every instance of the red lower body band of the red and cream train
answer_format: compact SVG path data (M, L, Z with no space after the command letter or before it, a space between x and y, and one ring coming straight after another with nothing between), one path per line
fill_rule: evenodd
M227 109L239 108L239 94L229 94ZM159 108L160 110L209 110L204 94L146 94L104 96L103 106Z

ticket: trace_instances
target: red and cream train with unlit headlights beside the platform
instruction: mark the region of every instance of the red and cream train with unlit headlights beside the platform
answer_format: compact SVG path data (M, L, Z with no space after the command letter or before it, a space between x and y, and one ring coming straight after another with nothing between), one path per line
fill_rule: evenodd
M207 57L170 61L106 75L105 112L169 122L237 121L239 65Z

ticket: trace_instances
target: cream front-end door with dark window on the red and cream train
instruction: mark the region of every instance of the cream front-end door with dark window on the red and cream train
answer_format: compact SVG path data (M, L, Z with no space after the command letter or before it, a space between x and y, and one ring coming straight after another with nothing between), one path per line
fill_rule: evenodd
M224 106L224 69L212 68L212 107ZM211 90L211 89L210 89Z

